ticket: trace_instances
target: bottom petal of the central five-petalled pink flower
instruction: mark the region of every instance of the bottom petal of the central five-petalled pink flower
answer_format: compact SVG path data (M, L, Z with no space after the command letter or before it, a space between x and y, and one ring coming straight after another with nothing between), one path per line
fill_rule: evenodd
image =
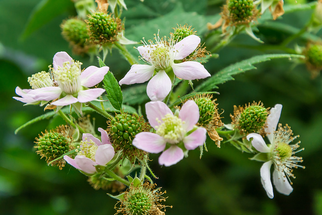
M184 157L182 149L177 146L171 146L164 151L159 157L159 164L169 167L181 161Z

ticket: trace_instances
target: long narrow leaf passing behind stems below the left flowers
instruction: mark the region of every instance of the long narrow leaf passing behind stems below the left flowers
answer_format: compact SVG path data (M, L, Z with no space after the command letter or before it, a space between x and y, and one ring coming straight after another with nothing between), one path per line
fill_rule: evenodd
M98 101L92 101L91 102L92 104L94 104L95 106L101 108L101 103L98 102ZM119 110L115 109L111 103L109 102L103 102L103 105L104 105L104 109L105 111L107 112L110 112L110 113L120 113ZM127 106L127 105L123 105L123 110L129 114L137 114L136 113L136 110L134 108L132 108L131 106ZM70 109L69 109L69 106L68 107L64 107L61 109L61 111L65 114L69 114L70 113ZM90 107L83 107L82 108L82 111L83 113L90 113L90 112L95 112L92 108ZM73 111L74 112L74 111ZM45 114L42 114L41 116L38 116L28 122L26 122L25 124L21 125L19 128L17 128L15 130L15 134L17 134L22 128L24 127L27 127L28 125L31 125L35 122L38 122L38 121L41 121L41 120L44 120L44 119L50 119L51 117L53 117L54 115L56 115L55 111L50 111L50 112L47 112Z

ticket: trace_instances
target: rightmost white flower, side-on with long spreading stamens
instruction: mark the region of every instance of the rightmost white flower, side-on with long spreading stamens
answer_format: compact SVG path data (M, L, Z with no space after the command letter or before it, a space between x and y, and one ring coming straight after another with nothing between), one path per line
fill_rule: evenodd
M247 135L248 140L252 138L253 147L260 152L253 160L265 162L260 171L261 182L270 198L274 197L271 182L272 165L274 165L273 182L275 188L284 195L289 195L293 191L293 188L289 183L290 177L295 178L292 173L292 168L304 168L303 166L298 165L298 163L303 162L302 158L294 156L295 153L301 151L295 151L299 148L299 142L294 145L289 145L290 142L298 136L291 136L292 130L289 126L282 127L281 124L279 124L278 129L276 130L281 110L282 105L275 105L267 118L267 128L265 129L265 132L271 145L266 145L263 137L258 133L250 133Z

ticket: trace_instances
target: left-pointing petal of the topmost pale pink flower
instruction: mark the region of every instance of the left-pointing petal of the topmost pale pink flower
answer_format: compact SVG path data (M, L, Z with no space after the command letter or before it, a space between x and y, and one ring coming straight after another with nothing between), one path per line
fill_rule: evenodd
M134 64L125 77L119 82L120 85L138 84L149 80L154 73L154 66Z

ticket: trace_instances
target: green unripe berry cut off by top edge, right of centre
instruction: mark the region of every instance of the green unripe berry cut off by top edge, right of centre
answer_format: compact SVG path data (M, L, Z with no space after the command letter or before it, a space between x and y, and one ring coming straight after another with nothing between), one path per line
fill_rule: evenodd
M253 0L230 0L228 10L232 22L246 21L253 16Z

